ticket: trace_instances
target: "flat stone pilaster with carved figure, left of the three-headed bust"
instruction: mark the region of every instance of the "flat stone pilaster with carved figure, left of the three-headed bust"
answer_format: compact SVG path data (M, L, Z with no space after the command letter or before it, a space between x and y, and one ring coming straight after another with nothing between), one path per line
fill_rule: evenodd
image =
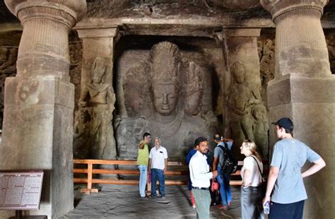
M79 37L83 40L83 66L81 73L81 100L79 107L81 110L87 110L90 113L90 148L88 149L88 158L97 159L116 159L117 150L112 126L112 112L114 110L115 94L113 85L113 52L114 44L117 41L117 27L99 28L89 27L86 24L78 24L76 30ZM102 58L104 60L104 73L102 75L102 84L109 88L110 94L104 96L105 102L92 101L93 93L100 90L90 90L92 87L92 77L94 73L95 60ZM94 103L95 102L95 103ZM94 128L94 124L100 124ZM93 139L93 140L92 140Z

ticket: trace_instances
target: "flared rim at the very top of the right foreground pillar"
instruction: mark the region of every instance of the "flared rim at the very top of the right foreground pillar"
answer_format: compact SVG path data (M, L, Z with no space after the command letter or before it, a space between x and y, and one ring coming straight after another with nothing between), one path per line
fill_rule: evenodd
M315 10L321 18L324 6L329 0L260 0L261 5L269 11L275 21L278 16L298 9Z

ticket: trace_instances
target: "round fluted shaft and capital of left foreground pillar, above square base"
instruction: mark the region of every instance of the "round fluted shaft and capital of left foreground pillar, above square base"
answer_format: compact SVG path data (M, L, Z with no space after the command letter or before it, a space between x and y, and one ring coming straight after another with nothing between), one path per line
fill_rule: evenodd
M69 30L86 14L86 0L5 0L23 25L18 77L69 81Z

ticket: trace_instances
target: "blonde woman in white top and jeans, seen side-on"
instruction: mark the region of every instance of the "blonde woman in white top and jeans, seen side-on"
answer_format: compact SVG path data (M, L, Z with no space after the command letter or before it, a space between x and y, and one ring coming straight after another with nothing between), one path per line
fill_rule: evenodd
M257 152L257 146L253 141L245 140L240 147L241 153L245 155L241 170L241 211L242 219L264 218L261 208L261 172L263 164L261 156ZM261 170L261 172L259 171Z

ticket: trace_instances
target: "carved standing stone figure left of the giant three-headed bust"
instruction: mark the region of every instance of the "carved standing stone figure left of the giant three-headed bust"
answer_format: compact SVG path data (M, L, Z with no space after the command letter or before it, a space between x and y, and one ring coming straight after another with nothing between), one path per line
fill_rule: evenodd
M115 159L112 127L115 95L105 80L107 59L96 57L82 85L74 122L74 158Z

